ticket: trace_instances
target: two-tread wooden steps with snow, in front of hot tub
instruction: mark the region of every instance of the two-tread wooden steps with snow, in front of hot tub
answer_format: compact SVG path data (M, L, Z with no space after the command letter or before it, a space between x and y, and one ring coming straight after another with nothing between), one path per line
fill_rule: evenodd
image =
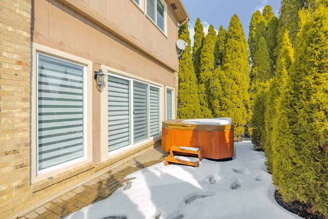
M189 155L189 156L183 156L183 155ZM165 165L169 165L170 163L176 163L176 164L184 164L184 165L198 167L198 164L202 158L203 158L202 148L177 147L173 145L170 148L170 155L165 158Z

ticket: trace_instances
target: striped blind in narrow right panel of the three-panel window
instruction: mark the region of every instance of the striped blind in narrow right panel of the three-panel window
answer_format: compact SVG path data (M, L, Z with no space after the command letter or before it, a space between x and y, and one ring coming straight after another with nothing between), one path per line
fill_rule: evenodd
M159 134L159 89L150 86L149 98L150 136L154 136Z

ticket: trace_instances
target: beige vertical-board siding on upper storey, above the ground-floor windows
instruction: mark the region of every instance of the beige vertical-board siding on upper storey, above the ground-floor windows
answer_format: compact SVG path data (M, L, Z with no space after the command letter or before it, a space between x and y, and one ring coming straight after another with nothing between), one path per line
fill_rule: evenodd
M76 2L76 10L64 4L71 2ZM172 78L172 73L178 71L175 49L177 21L170 19L172 15L167 17L165 34L159 31L145 12L138 10L133 1L90 2L93 4L82 1L35 1L33 42L138 76L148 77L150 69L162 69L159 65L167 69L166 75L158 74L161 78L170 75ZM99 2L105 6L101 7L97 4ZM108 15L104 13L104 8Z

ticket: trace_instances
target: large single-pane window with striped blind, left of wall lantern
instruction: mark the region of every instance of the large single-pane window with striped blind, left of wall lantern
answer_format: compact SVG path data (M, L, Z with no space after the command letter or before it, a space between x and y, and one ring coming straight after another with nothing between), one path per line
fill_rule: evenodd
M37 170L85 156L85 66L37 53Z

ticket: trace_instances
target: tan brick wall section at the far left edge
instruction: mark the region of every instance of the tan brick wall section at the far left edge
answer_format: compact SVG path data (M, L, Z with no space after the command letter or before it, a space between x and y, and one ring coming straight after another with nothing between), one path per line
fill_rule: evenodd
M30 196L31 1L0 1L0 218Z

